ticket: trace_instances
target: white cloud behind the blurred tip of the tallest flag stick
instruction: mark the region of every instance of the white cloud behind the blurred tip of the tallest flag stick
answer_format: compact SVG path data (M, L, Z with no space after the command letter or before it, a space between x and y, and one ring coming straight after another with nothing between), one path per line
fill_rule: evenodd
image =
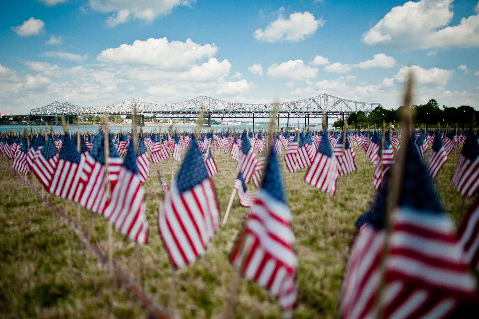
M440 87L445 86L447 81L454 75L454 70L445 70L441 68L430 68L426 70L420 66L412 65L411 67L400 68L394 79L399 82L405 82L411 71L414 74L414 79L420 84L429 84Z

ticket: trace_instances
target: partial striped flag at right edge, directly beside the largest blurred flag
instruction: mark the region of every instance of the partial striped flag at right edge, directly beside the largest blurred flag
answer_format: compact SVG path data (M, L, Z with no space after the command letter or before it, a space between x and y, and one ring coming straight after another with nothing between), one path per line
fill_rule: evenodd
M466 254L466 262L479 270L479 200L471 206L461 228L457 232L457 242Z

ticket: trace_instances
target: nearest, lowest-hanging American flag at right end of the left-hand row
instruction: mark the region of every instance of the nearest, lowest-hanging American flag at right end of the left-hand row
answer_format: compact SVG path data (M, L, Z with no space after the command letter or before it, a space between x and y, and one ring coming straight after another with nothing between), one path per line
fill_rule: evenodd
M137 156L133 143L130 142L118 175L118 182L112 191L110 201L105 206L103 216L108 218L123 235L141 244L148 243L149 233L144 199L145 190L137 171Z

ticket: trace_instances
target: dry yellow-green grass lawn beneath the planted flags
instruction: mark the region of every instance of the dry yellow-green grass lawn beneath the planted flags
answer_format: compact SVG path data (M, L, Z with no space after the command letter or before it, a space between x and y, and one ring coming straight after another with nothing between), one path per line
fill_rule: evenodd
M284 183L293 213L296 252L299 261L299 300L295 318L337 318L336 304L344 263L354 238L354 221L371 205L373 164L364 150L356 151L357 171L340 177L341 198L331 197L331 223L326 217L326 195L303 181L306 170L287 172ZM429 153L429 149L427 150ZM439 191L445 211L456 221L461 197L449 180L453 158L440 172ZM215 153L218 173L213 181L221 214L224 215L236 179L235 162L223 150ZM149 244L141 247L142 288L150 298L165 306L169 299L171 266L161 243L157 215L163 200L157 170L167 181L179 163L168 159L154 164L145 182ZM32 196L12 173L1 165L0 183L8 192L0 194L0 314L11 317L117 317L141 318L145 313L119 289L95 258L86 256L75 232L64 226ZM250 185L249 187L252 187ZM64 200L54 202L63 207ZM466 207L472 199L466 201ZM75 205L68 203L68 215L75 217ZM221 318L225 297L233 280L228 263L247 208L235 198L228 223L218 229L205 255L179 272L175 302L182 318ZM89 213L82 211L82 227L88 227ZM221 217L222 217L221 216ZM93 217L92 241L106 247L106 222ZM114 230L114 259L127 273L134 273L134 243ZM4 262L5 261L5 262ZM33 274L33 277L31 276ZM133 279L132 279L133 280ZM5 290L8 288L7 290ZM8 291L8 293L5 293ZM49 296L44 300L44 296ZM110 297L108 297L110 296ZM254 283L241 280L236 318L280 318L276 300Z

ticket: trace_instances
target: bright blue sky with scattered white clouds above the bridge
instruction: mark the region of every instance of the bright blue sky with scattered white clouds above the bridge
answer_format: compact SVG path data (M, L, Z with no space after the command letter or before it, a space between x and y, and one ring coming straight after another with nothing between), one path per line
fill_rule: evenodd
M2 1L0 106L294 101L479 109L476 1ZM261 65L261 66L260 66Z

